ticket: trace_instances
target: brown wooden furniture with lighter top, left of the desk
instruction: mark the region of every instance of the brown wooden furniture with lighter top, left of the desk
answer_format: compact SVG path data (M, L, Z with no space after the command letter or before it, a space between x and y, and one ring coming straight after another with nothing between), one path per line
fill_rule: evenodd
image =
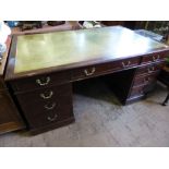
M0 134L21 130L25 128L21 114L4 83L4 68L10 49L11 38L7 40L8 50L4 52L0 63Z

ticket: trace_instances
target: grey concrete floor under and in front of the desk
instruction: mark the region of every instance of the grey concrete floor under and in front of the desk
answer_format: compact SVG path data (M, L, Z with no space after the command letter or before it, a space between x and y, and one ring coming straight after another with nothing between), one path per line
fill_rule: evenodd
M0 146L169 146L169 106L160 102L160 85L145 100L121 106L105 83L80 85L74 94L76 122L36 136L13 132L0 136Z

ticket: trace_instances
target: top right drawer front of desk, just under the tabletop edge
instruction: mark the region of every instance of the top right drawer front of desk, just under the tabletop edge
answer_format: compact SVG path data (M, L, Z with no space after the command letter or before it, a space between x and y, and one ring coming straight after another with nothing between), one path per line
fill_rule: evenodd
M160 53L152 53L148 56L143 56L142 58L142 63L154 63L154 62L159 62L159 61L164 61L165 58L167 58L167 52L160 52Z

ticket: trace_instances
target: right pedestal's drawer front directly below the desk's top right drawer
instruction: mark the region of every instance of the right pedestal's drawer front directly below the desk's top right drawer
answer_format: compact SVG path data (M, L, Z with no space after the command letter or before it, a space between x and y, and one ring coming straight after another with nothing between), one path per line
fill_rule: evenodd
M136 75L156 74L160 71L162 63L142 67L137 69Z

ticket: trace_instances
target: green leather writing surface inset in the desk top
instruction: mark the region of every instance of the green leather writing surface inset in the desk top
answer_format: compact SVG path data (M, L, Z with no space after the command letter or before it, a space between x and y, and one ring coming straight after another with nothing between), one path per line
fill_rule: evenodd
M121 26L17 37L14 73L143 55L165 45Z

